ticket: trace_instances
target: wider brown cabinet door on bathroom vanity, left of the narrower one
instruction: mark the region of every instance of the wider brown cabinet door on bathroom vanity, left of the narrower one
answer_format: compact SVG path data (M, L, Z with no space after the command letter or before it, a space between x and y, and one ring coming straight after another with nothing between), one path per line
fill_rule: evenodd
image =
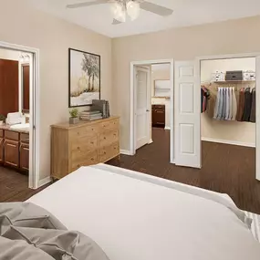
M5 164L19 167L19 142L16 140L5 140Z

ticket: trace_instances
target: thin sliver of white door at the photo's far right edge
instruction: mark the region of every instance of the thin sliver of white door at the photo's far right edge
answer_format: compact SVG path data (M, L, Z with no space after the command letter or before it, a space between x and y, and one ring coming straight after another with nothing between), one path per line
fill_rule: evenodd
M260 181L260 57L256 57L256 111L255 111L255 132L256 132L256 140L255 140L255 153L256 153L256 180Z

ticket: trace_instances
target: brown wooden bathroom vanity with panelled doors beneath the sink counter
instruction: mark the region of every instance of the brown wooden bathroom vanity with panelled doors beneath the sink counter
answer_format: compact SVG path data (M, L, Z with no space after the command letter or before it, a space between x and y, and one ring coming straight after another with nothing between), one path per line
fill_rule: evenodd
M0 125L0 164L19 172L29 171L29 130Z

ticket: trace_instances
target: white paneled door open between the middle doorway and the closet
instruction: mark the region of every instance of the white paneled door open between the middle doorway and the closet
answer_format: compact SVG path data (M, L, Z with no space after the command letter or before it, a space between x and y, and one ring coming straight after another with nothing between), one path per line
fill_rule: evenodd
M195 62L176 61L174 71L175 164L201 168L201 97Z

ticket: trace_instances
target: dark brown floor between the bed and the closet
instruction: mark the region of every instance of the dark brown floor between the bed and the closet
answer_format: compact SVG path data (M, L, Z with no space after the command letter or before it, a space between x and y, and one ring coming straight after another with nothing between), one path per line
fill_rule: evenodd
M260 182L255 180L255 149L203 141L203 168L177 167L169 163L170 132L153 129L153 143L135 156L121 155L110 164L149 173L175 182L229 194L236 205L260 214Z

